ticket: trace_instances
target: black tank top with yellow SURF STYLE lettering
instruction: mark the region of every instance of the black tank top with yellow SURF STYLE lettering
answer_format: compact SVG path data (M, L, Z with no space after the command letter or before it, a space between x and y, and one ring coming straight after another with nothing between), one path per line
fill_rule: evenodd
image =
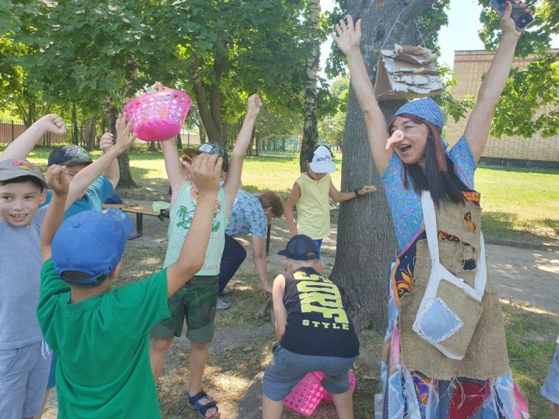
M279 344L301 355L358 355L359 341L343 307L340 288L312 267L283 275L287 325Z

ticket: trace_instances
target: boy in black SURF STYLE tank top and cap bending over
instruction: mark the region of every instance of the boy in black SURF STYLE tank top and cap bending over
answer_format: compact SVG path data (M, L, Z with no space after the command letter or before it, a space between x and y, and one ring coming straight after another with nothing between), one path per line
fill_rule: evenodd
M274 280L275 334L279 339L264 373L263 419L282 417L283 399L309 372L324 372L322 385L332 393L337 416L352 419L348 372L359 341L342 304L342 289L318 270L317 244L295 235L284 250L287 270Z

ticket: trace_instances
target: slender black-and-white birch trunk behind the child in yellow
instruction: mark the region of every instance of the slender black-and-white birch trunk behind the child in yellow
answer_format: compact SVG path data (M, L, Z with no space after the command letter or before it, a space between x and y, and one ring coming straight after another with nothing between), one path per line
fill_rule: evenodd
M310 0L308 7L310 21L308 42L312 43L312 52L305 64L307 76L305 80L305 118L303 121L303 143L301 144L301 152L299 155L301 172L307 170L307 165L305 163L307 156L310 150L319 142L319 131L317 128L317 75L319 73L320 61L320 39L318 38L320 1Z

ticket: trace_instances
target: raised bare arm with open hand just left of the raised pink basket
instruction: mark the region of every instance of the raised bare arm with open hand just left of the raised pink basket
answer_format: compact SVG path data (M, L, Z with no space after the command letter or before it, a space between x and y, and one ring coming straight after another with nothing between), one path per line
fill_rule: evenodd
M120 114L117 118L116 144L110 147L99 159L80 170L72 179L70 190L68 191L68 198L66 199L66 210L68 210L75 200L83 196L87 188L89 188L89 185L101 176L120 154L132 147L137 135L131 133L132 119L128 124L126 124L125 121L124 115Z

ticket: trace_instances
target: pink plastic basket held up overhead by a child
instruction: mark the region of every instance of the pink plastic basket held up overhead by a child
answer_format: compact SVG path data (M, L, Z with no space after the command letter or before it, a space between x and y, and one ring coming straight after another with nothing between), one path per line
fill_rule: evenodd
M124 105L126 121L134 117L132 131L144 141L161 141L180 133L192 99L180 90L165 88L133 98Z

